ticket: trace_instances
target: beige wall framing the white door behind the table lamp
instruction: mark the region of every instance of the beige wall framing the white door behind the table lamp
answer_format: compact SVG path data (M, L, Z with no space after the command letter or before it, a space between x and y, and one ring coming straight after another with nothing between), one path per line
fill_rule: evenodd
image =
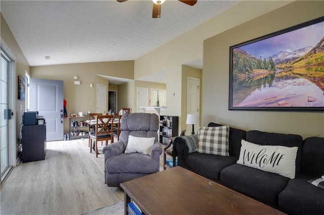
M202 70L195 69L192 67L188 67L183 65L182 66L182 85L181 85L181 116L179 118L179 132L181 130L187 129L186 134L190 134L191 131L191 125L186 125L186 120L187 120L187 78L197 78L200 80L199 85L201 86L201 75L202 75ZM201 88L199 90L200 95L200 105L199 105L199 116L201 118ZM195 128L196 130L197 128ZM180 133L179 133L180 134Z

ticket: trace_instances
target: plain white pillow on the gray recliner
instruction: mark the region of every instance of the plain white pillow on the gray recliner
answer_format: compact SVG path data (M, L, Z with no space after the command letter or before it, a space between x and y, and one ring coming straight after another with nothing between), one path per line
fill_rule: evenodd
M154 140L154 137L134 137L129 135L125 153L138 152L149 154L154 144Z

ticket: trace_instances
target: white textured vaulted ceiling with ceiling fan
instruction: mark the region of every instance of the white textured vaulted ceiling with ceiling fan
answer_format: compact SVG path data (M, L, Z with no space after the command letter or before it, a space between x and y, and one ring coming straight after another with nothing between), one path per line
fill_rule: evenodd
M198 0L191 7L167 0L156 19L151 0L2 0L0 8L29 66L44 66L136 60L238 2ZM186 65L201 69L202 62ZM141 80L161 80L161 76ZM118 84L127 81L102 77Z

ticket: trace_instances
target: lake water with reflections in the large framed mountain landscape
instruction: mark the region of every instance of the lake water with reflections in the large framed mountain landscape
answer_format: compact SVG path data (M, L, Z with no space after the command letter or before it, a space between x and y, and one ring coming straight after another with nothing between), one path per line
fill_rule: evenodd
M292 76L254 77L253 80L233 81L236 95L233 106L237 107L292 107L324 106L323 91L311 81Z

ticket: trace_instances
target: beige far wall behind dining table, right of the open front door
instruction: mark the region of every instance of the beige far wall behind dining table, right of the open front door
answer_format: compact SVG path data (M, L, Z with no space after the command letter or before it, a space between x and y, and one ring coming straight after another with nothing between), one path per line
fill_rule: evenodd
M83 64L65 64L52 66L31 67L31 78L62 80L64 81L64 99L67 101L66 110L68 115L78 112L96 113L97 84L107 87L107 110L108 112L108 90L107 79L98 75L116 76L132 79L134 78L134 61L99 62ZM80 85L74 85L73 77L77 76ZM90 84L93 87L90 87ZM119 102L119 100L118 100ZM64 120L64 133L69 131L69 121Z

